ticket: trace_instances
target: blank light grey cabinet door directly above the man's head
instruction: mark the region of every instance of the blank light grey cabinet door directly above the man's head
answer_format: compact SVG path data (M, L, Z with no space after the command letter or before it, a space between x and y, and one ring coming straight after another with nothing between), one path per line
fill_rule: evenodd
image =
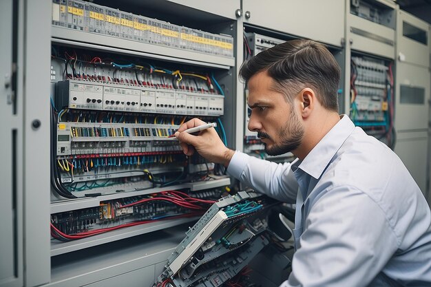
M243 0L244 23L337 47L344 38L344 0Z

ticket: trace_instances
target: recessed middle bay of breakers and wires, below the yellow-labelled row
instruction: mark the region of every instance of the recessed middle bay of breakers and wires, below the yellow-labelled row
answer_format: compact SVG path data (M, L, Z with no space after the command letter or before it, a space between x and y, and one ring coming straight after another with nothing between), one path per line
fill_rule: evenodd
M59 80L52 117L56 193L66 198L105 195L213 173L211 162L187 159L173 136L193 116L217 122L223 135L224 96L213 72L118 63L116 54L96 56L61 45L52 51Z

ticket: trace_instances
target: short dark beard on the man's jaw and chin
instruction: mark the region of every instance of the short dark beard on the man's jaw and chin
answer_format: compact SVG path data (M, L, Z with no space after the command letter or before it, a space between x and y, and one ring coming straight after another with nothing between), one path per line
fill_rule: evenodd
M272 140L269 134L264 132L258 132L257 136L259 138L269 138ZM278 137L280 138L280 143L274 142L272 147L269 147L264 143L265 152L268 153L269 156L279 156L280 154L294 151L299 147L299 145L301 145L302 138L304 137L304 127L302 127L301 123L297 119L294 110L292 110L291 116L284 127L278 132Z

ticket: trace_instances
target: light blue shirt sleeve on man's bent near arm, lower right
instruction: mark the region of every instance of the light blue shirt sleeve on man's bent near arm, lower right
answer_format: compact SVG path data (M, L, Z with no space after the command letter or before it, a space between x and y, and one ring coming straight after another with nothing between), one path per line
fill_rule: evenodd
M332 189L314 204L299 242L292 273L280 287L368 286L399 247L380 206L349 187Z

